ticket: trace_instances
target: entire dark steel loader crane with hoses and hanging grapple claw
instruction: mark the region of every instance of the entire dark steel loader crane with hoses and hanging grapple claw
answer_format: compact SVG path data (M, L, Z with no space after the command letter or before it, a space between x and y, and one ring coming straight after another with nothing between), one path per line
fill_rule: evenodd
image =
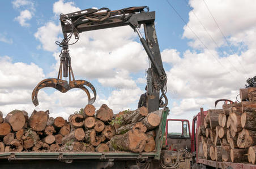
M147 11L144 11L144 9ZM109 8L86 9L82 11L72 12L70 14L61 14L60 16L63 40L56 42L59 47L62 47L60 57L59 72L57 78L50 78L41 81L32 92L32 101L36 106L39 104L37 93L41 88L53 87L58 91L67 92L71 88L81 88L88 96L88 104L93 104L96 99L96 90L91 83L84 80L75 80L71 67L71 57L69 55L69 45L73 45L79 40L79 33L114 28L117 26L130 25L134 32L138 33L140 42L146 51L151 62L151 68L147 70L147 108L153 112L159 107L167 106L167 75L163 68L159 45L155 30L155 11L150 12L147 6L129 7L121 10L111 11ZM146 39L139 31L140 25L144 26ZM72 35L76 41L69 43ZM69 77L69 82L62 80L63 77ZM71 81L72 76L72 81ZM91 88L94 97L91 98L87 87ZM161 91L161 96L160 96ZM164 98L164 101L162 100Z

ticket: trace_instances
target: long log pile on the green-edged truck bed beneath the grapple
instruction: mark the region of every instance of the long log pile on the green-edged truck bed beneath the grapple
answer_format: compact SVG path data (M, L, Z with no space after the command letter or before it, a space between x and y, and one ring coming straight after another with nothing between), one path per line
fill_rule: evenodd
M107 105L87 105L79 113L49 117L49 111L0 112L0 152L152 152L160 117L147 108L113 114Z

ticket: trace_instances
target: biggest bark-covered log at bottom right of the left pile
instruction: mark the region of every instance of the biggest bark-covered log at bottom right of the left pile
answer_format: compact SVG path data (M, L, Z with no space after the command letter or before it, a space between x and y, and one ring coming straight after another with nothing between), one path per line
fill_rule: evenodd
M138 129L130 130L123 135L116 135L109 141L109 148L111 150L131 151L134 153L141 153L148 141L148 137L144 132Z

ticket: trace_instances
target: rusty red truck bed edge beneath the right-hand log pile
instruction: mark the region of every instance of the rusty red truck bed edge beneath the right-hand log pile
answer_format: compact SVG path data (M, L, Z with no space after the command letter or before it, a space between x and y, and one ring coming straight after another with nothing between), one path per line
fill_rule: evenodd
M198 163L215 168L227 168L228 166L231 166L233 169L256 169L256 165L251 163L219 162L202 158L198 159Z

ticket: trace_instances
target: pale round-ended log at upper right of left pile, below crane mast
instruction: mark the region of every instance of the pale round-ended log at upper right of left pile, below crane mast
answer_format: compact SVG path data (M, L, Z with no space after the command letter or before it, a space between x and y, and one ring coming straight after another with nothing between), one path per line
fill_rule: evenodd
M150 131L159 126L160 117L155 113L150 113L142 120L142 123L147 127L148 131Z

